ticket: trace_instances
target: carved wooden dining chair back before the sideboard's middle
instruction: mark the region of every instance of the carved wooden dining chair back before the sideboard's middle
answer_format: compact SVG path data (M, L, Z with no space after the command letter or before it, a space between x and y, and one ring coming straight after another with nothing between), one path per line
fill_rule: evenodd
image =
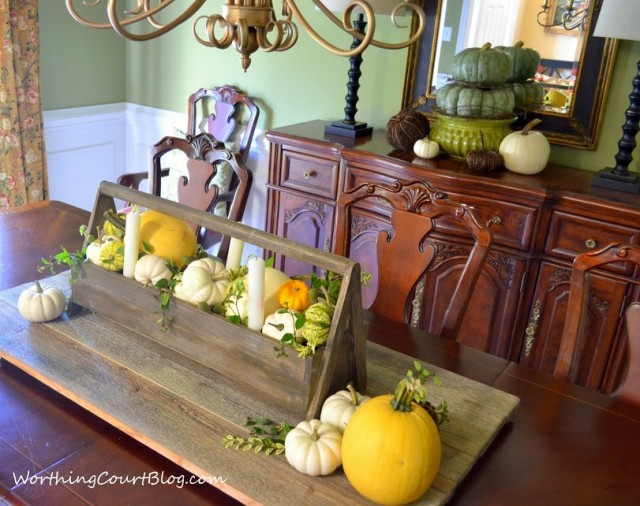
M437 248L430 242L436 219L448 217L468 231L473 247L458 270L437 331L440 336L455 339L491 247L489 227L481 223L473 207L450 200L446 193L426 181L364 183L338 197L335 250L340 255L354 253L351 247L357 229L362 227L352 210L358 207L361 213L366 209L361 203L365 199L372 199L369 209L386 202L391 222L391 229L379 230L376 235L377 291L368 309L396 321L416 325L414 308L422 304L418 298L425 297L424 293L419 294L417 286L437 256Z

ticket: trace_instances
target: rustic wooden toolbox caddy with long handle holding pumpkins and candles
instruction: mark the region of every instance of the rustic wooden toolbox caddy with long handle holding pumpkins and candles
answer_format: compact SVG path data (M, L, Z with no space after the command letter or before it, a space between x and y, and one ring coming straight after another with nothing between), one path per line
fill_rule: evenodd
M359 264L109 182L102 182L97 191L89 222L89 232L94 236L97 227L104 223L105 211L116 209L114 199L235 237L263 248L266 255L276 252L341 275L329 338L311 357L300 358L290 349L286 357L278 357L274 349L278 343L273 339L175 297L168 310L172 323L163 330L157 323L160 310L157 288L145 287L121 273L89 262L82 264L72 286L75 304L135 330L141 339L152 339L177 352L181 361L197 364L200 371L231 378L247 395L267 398L299 418L317 418L325 398L349 382L361 391L366 388Z

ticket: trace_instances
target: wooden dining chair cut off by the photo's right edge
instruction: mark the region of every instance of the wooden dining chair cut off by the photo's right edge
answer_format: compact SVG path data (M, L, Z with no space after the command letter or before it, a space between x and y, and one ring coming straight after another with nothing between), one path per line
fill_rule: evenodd
M611 243L596 251L581 253L573 261L567 317L553 375L573 382L577 375L583 331L589 314L589 274L592 269L613 262L640 265L640 246ZM632 283L640 285L640 279ZM613 396L640 405L640 302L625 311L627 330L627 370Z

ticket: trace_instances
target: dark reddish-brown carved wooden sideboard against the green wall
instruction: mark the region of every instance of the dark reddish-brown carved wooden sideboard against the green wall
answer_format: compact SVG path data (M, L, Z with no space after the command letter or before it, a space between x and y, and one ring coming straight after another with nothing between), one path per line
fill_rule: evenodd
M492 221L494 243L460 342L552 373L562 334L571 262L582 251L619 241L640 243L640 197L591 189L593 172L548 166L535 176L506 170L479 175L464 162L424 160L389 145L384 131L365 139L325 136L312 121L267 133L270 142L267 230L311 246L333 250L335 202L341 191L363 182L427 180L455 200L471 204ZM388 227L388 209L360 206L353 213L351 256L377 287L375 248ZM357 223L355 223L357 220ZM419 326L433 331L441 318L437 301L447 297L470 240L452 223L437 223L437 260L425 273ZM289 274L309 266L275 256ZM410 258L407 259L411 261ZM628 264L594 273L591 322L578 383L611 393L625 364L620 314L640 293L628 281L639 273Z

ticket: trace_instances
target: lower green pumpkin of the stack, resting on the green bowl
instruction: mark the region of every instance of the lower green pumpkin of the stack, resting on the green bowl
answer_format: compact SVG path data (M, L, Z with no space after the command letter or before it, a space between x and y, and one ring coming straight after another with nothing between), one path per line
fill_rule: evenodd
M482 89L453 82L437 91L436 106L450 116L496 118L513 112L515 97L506 86Z

